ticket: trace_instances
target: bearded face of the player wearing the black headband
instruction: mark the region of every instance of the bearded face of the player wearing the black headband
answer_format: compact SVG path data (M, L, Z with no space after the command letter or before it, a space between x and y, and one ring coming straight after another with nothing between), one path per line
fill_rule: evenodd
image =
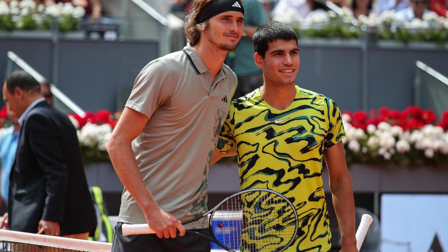
M244 28L244 15L237 11L227 11L209 20L207 30L202 32L201 41L226 51L235 50Z

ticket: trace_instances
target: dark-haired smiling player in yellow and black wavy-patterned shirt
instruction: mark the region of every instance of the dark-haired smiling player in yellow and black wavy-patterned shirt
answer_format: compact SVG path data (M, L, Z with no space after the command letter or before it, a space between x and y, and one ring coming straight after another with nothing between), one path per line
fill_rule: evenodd
M297 37L289 26L275 21L261 25L254 46L263 86L231 102L212 163L237 154L241 189L272 189L293 202L299 231L286 251L328 251L331 234L322 180L325 158L341 251L357 251L353 191L338 106L295 85L300 58Z

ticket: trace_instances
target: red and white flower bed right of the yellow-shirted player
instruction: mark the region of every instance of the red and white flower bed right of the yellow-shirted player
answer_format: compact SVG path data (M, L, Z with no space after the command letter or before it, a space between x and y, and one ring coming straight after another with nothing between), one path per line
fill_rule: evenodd
M439 122L433 111L418 106L345 112L342 117L348 163L448 165L448 111Z

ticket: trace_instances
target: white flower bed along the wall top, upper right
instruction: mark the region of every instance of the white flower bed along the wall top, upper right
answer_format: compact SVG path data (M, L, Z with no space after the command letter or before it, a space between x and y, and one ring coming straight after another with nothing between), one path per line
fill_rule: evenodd
M297 17L294 11L287 12L276 20L289 24L299 38L358 38L361 31L373 33L379 40L434 42L444 45L448 42L448 18L435 12L415 18L410 22L397 19L395 11L384 11L380 16L353 16L350 9L342 8L342 14L334 11L312 12L306 19Z

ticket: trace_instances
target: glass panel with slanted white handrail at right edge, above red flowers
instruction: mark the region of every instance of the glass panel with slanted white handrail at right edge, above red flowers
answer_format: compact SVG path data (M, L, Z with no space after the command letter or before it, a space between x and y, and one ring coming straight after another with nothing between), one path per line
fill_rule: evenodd
M415 65L415 104L432 109L440 118L448 109L448 78L423 62L417 61Z

